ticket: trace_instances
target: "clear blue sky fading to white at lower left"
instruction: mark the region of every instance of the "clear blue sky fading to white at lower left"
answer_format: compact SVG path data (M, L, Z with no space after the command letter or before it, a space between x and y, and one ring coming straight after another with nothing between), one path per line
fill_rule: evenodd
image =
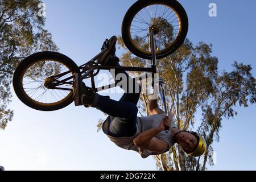
M77 64L89 60L102 42L121 35L127 9L135 0L43 0L46 28L60 52ZM219 70L231 71L234 61L251 64L256 76L256 2L253 0L179 1L189 17L187 38L194 44L213 44ZM210 18L208 5L217 5ZM121 55L117 51L117 55ZM118 99L121 94L111 94ZM52 112L33 110L13 94L13 122L0 131L0 165L6 170L155 170L155 160L142 159L133 151L118 148L102 133L97 121L105 115L96 109L71 104ZM255 170L255 109L236 107L237 117L223 119L220 143L214 143L217 164L209 170ZM200 115L197 115L200 122Z

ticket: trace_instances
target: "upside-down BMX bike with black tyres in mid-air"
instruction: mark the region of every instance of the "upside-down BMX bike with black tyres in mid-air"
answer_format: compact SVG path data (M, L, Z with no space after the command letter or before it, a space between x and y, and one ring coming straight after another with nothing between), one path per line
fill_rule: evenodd
M139 0L130 7L123 18L122 39L134 55L151 60L151 67L98 65L96 60L108 47L106 40L101 52L81 66L59 52L38 52L26 57L15 69L14 91L20 101L33 109L42 111L62 109L74 101L72 88L75 76L78 75L82 80L90 79L92 89L98 92L117 85L115 83L96 88L94 76L101 70L119 69L156 73L156 59L174 53L183 44L187 32L188 17L179 2Z

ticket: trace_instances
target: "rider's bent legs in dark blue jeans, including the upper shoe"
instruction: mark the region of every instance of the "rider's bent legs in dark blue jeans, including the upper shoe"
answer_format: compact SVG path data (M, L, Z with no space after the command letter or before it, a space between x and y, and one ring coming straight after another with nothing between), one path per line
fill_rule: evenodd
M115 36L110 38L108 49L106 49L105 53L97 60L97 63L109 66L119 65L119 59L114 56L116 41L117 38ZM100 96L97 93L92 94L92 90L89 90L85 94L85 97L82 97L82 102L86 105L96 107L110 116L111 119L109 119L108 122L109 135L113 137L130 137L137 131L138 108L136 105L139 100L139 94L141 93L141 86L138 82L135 82L133 78L129 77L125 71L115 69L115 74L112 73L112 76L115 77L119 73L123 73L129 82L133 82L134 89L132 93L129 93L129 84L127 88L121 85L120 87L125 90L125 94L123 94L119 101L115 101L108 97ZM134 92L137 91L136 89L138 90L137 93ZM90 102L86 103L88 100L90 100Z

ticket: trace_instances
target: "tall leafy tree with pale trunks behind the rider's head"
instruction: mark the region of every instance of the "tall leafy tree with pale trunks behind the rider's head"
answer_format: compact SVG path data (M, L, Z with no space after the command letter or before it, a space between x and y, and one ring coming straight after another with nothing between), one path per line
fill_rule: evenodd
M160 27L160 34L156 35L156 47L168 46L173 40L172 26L163 19L154 19L154 24ZM134 42L148 50L145 38L134 38ZM121 56L123 66L146 67L151 60L143 60L133 56L126 48L121 37L118 39L119 48L124 52ZM218 71L218 58L212 56L212 45L203 42L196 46L186 39L183 45L172 55L157 61L160 77L166 84L166 99L173 105L175 122L180 130L194 130L203 135L207 142L207 151L199 158L185 154L176 144L169 152L154 156L159 170L184 171L205 170L209 162L210 152L213 151L214 141L219 142L219 131L223 118L237 115L234 107L247 107L256 102L256 81L251 75L251 66L234 62L233 71ZM141 73L137 73L140 75ZM161 104L161 101L159 101ZM148 95L141 94L138 104L139 113L148 115ZM168 106L170 109L170 105ZM195 114L202 113L202 117L195 118ZM196 125L195 125L196 123ZM198 126L198 127L197 127ZM211 163L209 163L212 165Z

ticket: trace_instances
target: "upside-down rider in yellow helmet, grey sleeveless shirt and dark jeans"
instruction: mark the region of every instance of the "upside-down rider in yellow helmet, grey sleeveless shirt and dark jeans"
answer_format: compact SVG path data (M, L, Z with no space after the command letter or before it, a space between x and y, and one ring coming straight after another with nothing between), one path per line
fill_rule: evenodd
M116 42L116 36L109 39L108 48L98 58L98 64L120 66L118 57L115 57ZM142 158L163 154L169 151L175 143L179 144L191 156L204 154L206 143L203 137L197 133L177 129L173 121L173 114L171 113L169 119L165 117L164 112L158 107L157 100L150 100L148 103L147 109L151 114L150 116L137 117L137 102L141 93L141 86L125 71L115 69L112 76L115 78L118 73L125 74L129 80L133 81L132 93L127 91L128 88L125 89L122 85L120 86L125 90L125 93L119 101L93 92L81 80L79 80L80 88L75 89L79 89L79 92L82 93L82 105L95 107L109 115L102 125L102 130L112 142L126 150L137 151ZM135 88L139 88L139 92L136 93ZM165 131L166 125L170 128L168 133Z

